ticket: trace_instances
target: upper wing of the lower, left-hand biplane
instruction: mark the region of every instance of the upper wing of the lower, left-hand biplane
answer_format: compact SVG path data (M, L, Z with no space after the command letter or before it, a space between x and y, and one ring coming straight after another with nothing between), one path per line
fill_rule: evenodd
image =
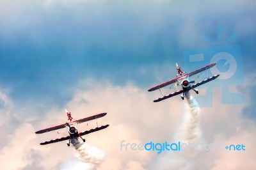
M85 121L90 121L90 120L95 120L97 118L101 118L101 117L105 116L106 114L107 114L106 112L103 112L103 113L100 113L100 114L96 114L96 115L90 116L88 118L83 118L81 120L72 121L70 123L74 123L74 122L83 123ZM58 130L60 128L65 128L65 127L66 127L66 123L64 123L62 125L55 126L55 127L50 127L50 128L45 128L45 129L42 129L42 130L38 130L35 133L36 134L43 134L45 132L50 132L52 130Z

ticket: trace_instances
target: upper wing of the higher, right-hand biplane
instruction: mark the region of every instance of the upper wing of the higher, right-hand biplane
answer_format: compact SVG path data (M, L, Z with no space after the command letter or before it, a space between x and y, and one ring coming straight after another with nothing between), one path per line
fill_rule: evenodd
M154 86L153 88L148 89L148 91L154 91L154 90L156 90L156 89L163 88L163 87L165 87L165 86L168 86L168 85L170 85L170 84L176 82L176 81L179 80L179 79L183 79L183 78L185 78L185 77L192 76L192 75L195 75L196 73L200 73L200 72L203 72L204 70L207 70L207 69L209 69L209 68L212 68L212 66L214 66L214 65L216 65L216 63L211 63L210 65L207 65L207 66L204 66L204 67L202 67L202 68L199 68L198 70L195 70L194 72L186 73L185 75L182 75L182 76L177 77L177 78L175 78L175 79L172 79L172 80L170 80L170 81L166 81L166 82L164 82L163 84L159 84L159 85L157 85L157 86Z

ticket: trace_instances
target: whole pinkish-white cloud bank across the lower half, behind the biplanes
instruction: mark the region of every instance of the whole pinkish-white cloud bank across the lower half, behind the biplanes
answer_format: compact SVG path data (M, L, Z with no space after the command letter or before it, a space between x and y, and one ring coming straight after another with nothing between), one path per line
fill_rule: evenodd
M214 91L214 104L211 108L201 108L202 137L209 143L246 145L246 151L209 151L202 152L193 162L193 167L204 169L241 167L245 158L253 160L253 134L255 124L248 125L248 119L242 116L243 106L223 105L220 102L220 89ZM106 158L99 169L150 169L152 163L163 160L163 155L154 151L133 151L131 143L162 143L172 141L182 122L184 102L179 97L173 97L159 103L153 103L154 95L134 84L116 86L108 81L97 82L95 79L84 79L77 85L76 93L67 102L66 107L74 118L83 118L99 112L108 112L100 118L99 125L110 126L99 132L84 136L86 142L103 150ZM8 96L7 96L8 97ZM13 104L15 106L15 104ZM28 106L24 106L28 107ZM33 107L33 105L31 106ZM15 110L15 109L14 109ZM15 114L13 112L12 114ZM28 118L32 116L30 112ZM40 146L41 141L61 137L67 134L65 130L57 133L36 135L37 129L57 125L65 121L65 109L50 107L44 115L30 119L19 120L14 125L12 134L6 135L8 142L0 150L0 160L5 169L29 169L36 162L38 169L63 169L68 165L79 166L65 142ZM228 123L227 123L228 122ZM88 125L79 125L79 131L96 127L95 121ZM121 150L120 143L124 141L127 150ZM124 149L124 148L123 148ZM10 154L12 153L12 154ZM14 162L15 161L15 164ZM177 162L173 160L173 165ZM211 162L202 165L200 162ZM236 162L233 164L232 162ZM247 161L245 167L255 167L253 161ZM188 164L188 162L181 162ZM234 166L236 165L236 167ZM82 165L83 166L83 165Z

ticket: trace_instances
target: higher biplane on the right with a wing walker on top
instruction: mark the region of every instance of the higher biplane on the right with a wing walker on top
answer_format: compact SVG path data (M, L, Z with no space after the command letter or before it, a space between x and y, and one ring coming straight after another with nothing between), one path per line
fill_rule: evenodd
M212 68L212 66L215 66L216 63L211 63L210 65L204 66L202 68L199 68L198 70L195 70L194 72L190 72L190 73L186 73L186 72L182 72L181 68L178 66L178 64L176 63L176 68L177 68L177 75L175 79L172 79L170 81L164 82L163 84L159 84L157 86L154 86L153 88L148 89L148 91L154 91L156 89L159 89L161 92L161 95L163 97L159 97L156 100L154 100L154 102L160 102L166 98L170 98L170 97L174 97L176 95L179 95L182 93L182 95L180 95L180 97L182 98L182 100L184 100L184 97L189 97L189 90L193 89L193 91L195 91L196 94L198 94L198 89L195 89L198 86L201 86L202 84L205 84L209 81L212 81L214 79L216 79L217 77L220 76L220 74L217 75L213 75L212 77L208 77L207 79L204 79L203 81L197 82L195 83L195 81L189 81L189 77L200 73L200 72L204 72L205 70L207 71L209 68ZM208 75L208 72L207 72ZM169 86L170 84L174 84L178 85L178 86L182 86L182 89L175 91L173 93L170 93L169 95L163 95L161 88L164 88L166 86ZM195 83L195 84L192 84Z

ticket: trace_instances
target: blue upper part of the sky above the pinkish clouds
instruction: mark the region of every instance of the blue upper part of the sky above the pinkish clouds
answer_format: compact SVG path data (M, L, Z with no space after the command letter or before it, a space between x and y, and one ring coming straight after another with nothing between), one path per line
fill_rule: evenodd
M0 78L14 98L65 98L62 91L84 77L116 84L133 81L147 88L155 82L150 66L182 65L184 50L216 45L239 43L244 65L254 70L255 12L250 1L223 6L200 1L78 4L13 1L3 7ZM234 33L236 38L227 42ZM140 75L140 68L148 73ZM168 70L164 74L171 77L174 69Z

